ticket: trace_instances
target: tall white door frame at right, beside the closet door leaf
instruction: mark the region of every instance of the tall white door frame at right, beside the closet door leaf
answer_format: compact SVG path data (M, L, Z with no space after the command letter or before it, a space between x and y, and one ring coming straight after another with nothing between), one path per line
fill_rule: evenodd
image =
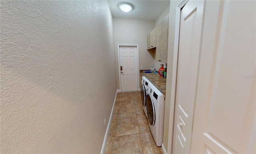
M179 47L179 36L180 36L180 15L181 15L180 12L181 12L181 9L187 3L188 3L188 0L182 0L176 6L174 54L173 54L173 66L172 66L172 87L171 87L167 154L172 153L172 143L173 143L174 115L175 115L174 111L175 111L175 100L176 100L177 70L178 70L178 47Z

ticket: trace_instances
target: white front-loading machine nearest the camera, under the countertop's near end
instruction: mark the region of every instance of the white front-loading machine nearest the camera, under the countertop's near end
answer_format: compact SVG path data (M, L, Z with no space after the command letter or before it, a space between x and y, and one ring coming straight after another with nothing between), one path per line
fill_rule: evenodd
M148 83L146 96L146 109L148 125L156 146L162 146L164 132L164 103L165 95L162 94L151 82Z

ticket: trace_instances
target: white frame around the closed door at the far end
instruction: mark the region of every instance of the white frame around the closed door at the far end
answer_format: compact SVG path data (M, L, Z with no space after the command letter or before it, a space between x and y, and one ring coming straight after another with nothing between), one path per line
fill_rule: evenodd
M119 48L120 46L136 46L137 47L137 91L140 91L139 84L140 84L140 79L139 79L139 74L140 74L140 69L139 69L139 45L138 44L117 44L117 55L118 55L118 76L119 76L119 89L117 92L122 92L121 89L121 72L120 72L120 54L119 54Z

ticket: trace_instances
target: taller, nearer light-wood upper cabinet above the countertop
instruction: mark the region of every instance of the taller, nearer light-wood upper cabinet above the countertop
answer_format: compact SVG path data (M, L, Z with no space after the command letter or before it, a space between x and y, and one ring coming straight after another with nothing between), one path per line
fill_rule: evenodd
M167 63L168 15L156 26L156 61Z

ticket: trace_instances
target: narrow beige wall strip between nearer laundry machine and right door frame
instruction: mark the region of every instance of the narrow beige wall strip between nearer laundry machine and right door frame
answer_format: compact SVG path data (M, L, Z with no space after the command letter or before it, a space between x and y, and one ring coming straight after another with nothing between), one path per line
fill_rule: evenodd
M165 109L164 109L164 138L163 144L167 148L168 145L168 131L170 114L174 112L173 108L170 108L171 102L171 87L172 87L172 65L173 65L173 53L174 53L174 35L176 24L176 6L180 3L180 0L171 0L170 2L170 18L169 18L169 35L168 35L168 64L167 64L167 78L166 78L166 95L165 95Z

